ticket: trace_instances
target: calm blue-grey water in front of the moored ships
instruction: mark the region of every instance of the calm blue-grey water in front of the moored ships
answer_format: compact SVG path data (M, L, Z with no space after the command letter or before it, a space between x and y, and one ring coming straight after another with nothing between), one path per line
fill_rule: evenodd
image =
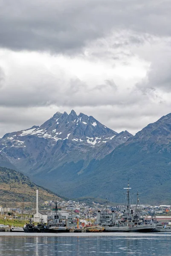
M0 255L12 256L141 256L171 255L171 233L1 233Z

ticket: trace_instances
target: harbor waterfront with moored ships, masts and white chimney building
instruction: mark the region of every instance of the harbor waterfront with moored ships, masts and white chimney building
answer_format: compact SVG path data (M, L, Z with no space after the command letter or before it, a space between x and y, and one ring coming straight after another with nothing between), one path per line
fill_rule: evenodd
M58 209L57 200L55 208L43 215L38 210L38 190L36 190L36 213L22 226L0 224L0 232L12 233L168 233L171 232L171 223L162 222L161 216L156 215L155 207L149 216L144 216L137 192L136 205L131 205L130 185L126 189L126 205L122 214L114 209L110 211L106 206L97 210L93 222L80 219L79 212L70 212ZM43 218L44 217L44 218ZM11 218L10 218L11 219Z

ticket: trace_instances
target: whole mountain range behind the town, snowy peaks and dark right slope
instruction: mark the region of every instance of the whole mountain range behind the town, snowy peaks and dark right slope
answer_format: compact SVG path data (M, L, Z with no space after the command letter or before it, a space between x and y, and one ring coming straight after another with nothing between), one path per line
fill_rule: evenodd
M84 114L57 112L40 127L6 134L0 150L1 163L66 197L124 204L129 178L142 204L171 204L171 113L131 136Z

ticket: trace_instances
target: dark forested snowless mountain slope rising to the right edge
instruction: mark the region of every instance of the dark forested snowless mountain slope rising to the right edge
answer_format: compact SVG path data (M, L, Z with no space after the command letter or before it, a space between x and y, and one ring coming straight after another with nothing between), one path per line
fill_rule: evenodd
M101 160L92 161L73 195L122 202L128 178L144 204L171 204L171 113L149 124ZM82 185L89 180L89 189ZM66 191L67 194L68 191ZM135 203L135 201L134 201Z

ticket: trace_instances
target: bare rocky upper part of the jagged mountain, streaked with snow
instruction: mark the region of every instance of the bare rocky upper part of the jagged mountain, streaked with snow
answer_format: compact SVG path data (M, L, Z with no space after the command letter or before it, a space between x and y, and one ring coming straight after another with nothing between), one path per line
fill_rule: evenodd
M34 140L41 138L42 141L45 140L50 145L70 141L70 143L81 143L94 147L104 145L104 143L115 145L116 143L113 141L116 135L118 135L116 131L107 128L93 116L87 116L84 113L77 115L72 110L70 114L56 112L41 126L33 126L27 130L6 134L3 139L7 139L6 143L11 147L26 147L26 141L33 137ZM128 137L130 136L117 137L117 144L125 142ZM2 150L5 150L4 148L2 147Z

